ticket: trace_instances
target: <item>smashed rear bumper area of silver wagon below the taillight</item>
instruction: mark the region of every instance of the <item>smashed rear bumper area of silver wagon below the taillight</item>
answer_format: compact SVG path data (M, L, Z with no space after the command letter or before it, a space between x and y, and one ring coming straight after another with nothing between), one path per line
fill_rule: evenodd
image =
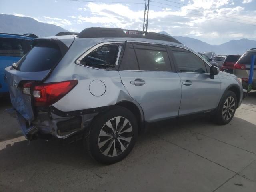
M78 132L84 133L90 122L98 113L81 114L76 116L58 116L53 112L38 112L38 116L32 122L26 120L14 108L6 109L10 116L16 118L23 135L28 140L38 137L68 138Z

